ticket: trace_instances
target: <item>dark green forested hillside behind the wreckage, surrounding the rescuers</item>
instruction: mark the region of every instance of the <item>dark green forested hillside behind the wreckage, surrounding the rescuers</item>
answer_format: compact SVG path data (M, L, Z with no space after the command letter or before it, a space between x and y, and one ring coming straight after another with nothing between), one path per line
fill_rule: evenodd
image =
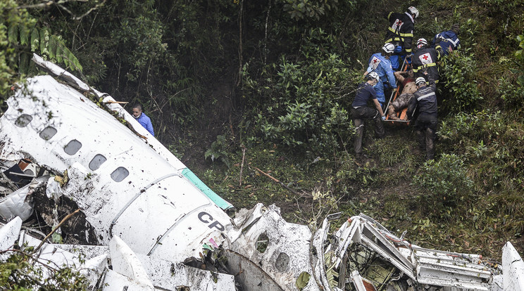
M368 127L355 162L349 108L390 11L415 37L461 25L439 63L437 156L411 127ZM118 101L237 208L275 204L315 227L363 212L423 247L524 252L524 4L474 1L21 1L0 3L2 111L38 53ZM126 105L131 110L131 104ZM369 124L370 125L370 124ZM275 183L266 174L278 179ZM282 186L283 185L283 186Z

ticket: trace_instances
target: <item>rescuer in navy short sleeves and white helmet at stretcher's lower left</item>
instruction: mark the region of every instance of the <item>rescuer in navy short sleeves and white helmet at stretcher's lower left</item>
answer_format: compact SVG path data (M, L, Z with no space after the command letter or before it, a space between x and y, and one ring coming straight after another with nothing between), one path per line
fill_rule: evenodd
M355 146L355 156L360 160L363 156L362 154L362 138L364 133L364 120L363 119L373 119L375 122L375 136L382 138L385 134L384 127L382 126L382 120L385 119L384 112L382 112L382 107L377 100L377 93L373 86L380 82L377 72L370 72L367 76L366 82L363 82L358 85L356 90L355 100L351 103L351 119L356 128L356 136L354 141ZM375 109L368 107L368 101L373 100L375 104Z

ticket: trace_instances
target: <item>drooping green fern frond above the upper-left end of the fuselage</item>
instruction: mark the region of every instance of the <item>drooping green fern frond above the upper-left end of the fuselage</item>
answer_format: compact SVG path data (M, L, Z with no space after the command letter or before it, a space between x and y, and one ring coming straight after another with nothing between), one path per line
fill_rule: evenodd
M27 27L25 24L8 27L8 41L11 46L18 47L18 72L27 74L30 71L30 58L37 53L48 60L63 64L69 70L82 72L82 65L76 56L66 46L62 37L51 34L47 27Z

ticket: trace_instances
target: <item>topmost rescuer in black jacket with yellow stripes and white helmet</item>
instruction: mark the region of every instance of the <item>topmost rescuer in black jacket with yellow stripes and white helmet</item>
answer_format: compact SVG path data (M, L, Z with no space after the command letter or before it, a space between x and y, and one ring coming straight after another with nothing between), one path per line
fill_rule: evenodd
M387 15L389 27L386 33L386 43L394 44L394 56L391 58L393 70L400 70L404 57L411 56L411 43L415 18L418 18L418 9L411 6L405 13L391 12Z

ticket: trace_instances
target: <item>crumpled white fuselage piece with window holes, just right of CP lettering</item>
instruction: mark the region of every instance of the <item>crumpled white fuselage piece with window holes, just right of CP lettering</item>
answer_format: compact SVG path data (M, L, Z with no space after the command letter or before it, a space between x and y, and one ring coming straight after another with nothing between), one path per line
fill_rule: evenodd
M232 233L236 236L224 246L232 273L240 275L235 278L247 290L297 290L295 283L302 272L313 275L311 231L307 226L287 223L274 205L257 205L250 215L240 218L244 224L235 223ZM257 249L261 238L268 240L265 249ZM304 290L319 290L313 276Z

